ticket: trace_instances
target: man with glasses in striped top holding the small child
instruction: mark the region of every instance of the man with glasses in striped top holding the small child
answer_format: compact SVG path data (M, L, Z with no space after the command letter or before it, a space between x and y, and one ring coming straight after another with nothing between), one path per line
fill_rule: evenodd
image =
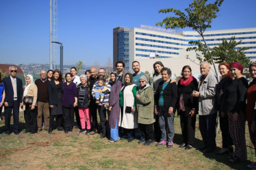
M103 68L99 69L98 75L99 75L99 78L101 77L101 78L105 79L106 70L103 69ZM94 83L94 86L92 88L92 96L93 97L95 95L94 90L95 90L95 87L96 87L97 83L98 83L98 81ZM100 120L101 120L101 138L106 137L106 131L108 132L108 135L109 135L109 123L106 121L106 111L107 111L107 105L106 104L109 103L109 93L110 93L110 90L111 90L111 86L107 81L106 81L106 86L107 86L107 91L105 91L104 99L102 101L102 106L97 105L98 113L99 113ZM109 112L107 111L107 115L108 114L109 114ZM90 134L94 134L94 132L91 132Z

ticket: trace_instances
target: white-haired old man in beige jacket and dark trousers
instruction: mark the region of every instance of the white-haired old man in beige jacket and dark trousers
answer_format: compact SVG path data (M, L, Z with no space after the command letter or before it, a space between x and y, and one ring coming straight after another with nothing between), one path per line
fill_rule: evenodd
M194 91L193 97L199 98L199 130L204 141L204 147L198 148L204 153L213 152L216 149L216 118L215 95L217 79L210 72L209 62L200 64L200 84L198 91Z

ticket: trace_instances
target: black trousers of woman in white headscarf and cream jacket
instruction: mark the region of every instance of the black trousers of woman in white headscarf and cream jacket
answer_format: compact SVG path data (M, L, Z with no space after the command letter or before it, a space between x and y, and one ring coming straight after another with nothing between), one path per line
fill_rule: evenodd
M25 119L25 131L26 132L37 132L37 106L34 110L31 110L31 106L26 105L26 110L24 111Z

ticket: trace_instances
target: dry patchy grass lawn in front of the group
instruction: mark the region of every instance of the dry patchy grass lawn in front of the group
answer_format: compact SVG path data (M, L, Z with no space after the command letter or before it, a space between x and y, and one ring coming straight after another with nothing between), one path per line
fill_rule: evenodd
M2 135L0 140L0 169L250 169L255 161L255 152L248 135L248 161L230 164L228 155L203 154L195 150L178 148L182 143L180 117L175 116L174 146L155 147L138 144L138 139L108 142L99 134L76 136L78 129L65 134L54 130L49 135L46 130L36 134L23 134L25 122L20 112L20 135ZM0 123L0 133L4 132L4 122ZM221 132L217 133L217 150L221 148ZM195 147L203 145L196 125Z

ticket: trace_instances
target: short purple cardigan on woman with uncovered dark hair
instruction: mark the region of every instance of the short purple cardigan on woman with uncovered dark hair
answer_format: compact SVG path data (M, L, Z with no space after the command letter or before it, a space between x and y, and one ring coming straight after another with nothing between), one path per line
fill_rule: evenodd
M76 84L71 82L68 86L66 86L66 82L64 82L62 91L62 105L73 105L75 103L75 97L77 98Z

